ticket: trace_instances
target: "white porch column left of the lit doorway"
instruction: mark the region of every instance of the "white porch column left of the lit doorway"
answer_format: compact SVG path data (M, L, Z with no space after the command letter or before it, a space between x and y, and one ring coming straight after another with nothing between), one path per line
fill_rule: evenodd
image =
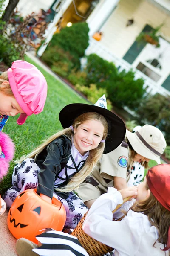
M51 41L51 38L53 37L54 32L57 30L57 27L56 27L57 21L59 20L60 17L62 17L63 13L68 9L68 6L71 4L71 2L72 2L72 0L65 0L60 11L55 15L53 22L51 22L48 25L48 28L45 31L45 38L46 38L45 44L42 44L42 46L40 47L40 49L37 52L37 55L39 57L42 56L48 43Z

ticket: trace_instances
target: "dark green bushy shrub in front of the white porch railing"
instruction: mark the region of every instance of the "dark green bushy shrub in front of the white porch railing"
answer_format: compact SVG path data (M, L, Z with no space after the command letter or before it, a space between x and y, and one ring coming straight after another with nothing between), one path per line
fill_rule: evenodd
M94 83L98 88L105 88L108 98L118 108L136 108L145 93L143 79L135 80L135 73L131 70L119 73L113 62L103 60L96 54L88 56L87 74L86 85Z

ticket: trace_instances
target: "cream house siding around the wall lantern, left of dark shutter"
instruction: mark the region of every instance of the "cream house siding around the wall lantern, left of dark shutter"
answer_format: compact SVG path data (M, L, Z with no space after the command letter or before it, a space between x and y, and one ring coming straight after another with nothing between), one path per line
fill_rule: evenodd
M134 19L126 27L127 20ZM117 8L101 27L100 41L117 57L122 58L146 24L159 26L164 23L161 33L170 41L170 16L147 0L120 0Z

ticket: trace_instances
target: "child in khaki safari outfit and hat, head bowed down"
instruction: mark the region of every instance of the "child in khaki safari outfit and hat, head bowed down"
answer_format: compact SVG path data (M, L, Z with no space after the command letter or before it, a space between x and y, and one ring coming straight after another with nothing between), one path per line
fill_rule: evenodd
M135 163L138 162L145 168L149 160L160 164L160 157L166 145L162 132L152 125L144 125L134 133L126 130L125 139L119 147L103 155L91 177L79 186L79 197L90 208L100 195L107 192L108 187L114 186L118 190L126 188L131 173L133 175L135 171ZM144 172L140 173L139 177L138 174L133 175L133 179L130 179L131 185L136 180L140 183L143 177Z

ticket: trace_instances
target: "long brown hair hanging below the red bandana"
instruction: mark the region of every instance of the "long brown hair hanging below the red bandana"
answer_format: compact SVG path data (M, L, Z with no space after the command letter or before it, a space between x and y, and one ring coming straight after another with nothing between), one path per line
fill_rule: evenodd
M146 183L146 189L149 189L149 186ZM170 227L170 211L167 210L163 205L159 203L159 201L154 197L152 192L150 193L150 197L133 204L130 208L134 212L142 212L147 215L150 224L155 226L159 231L159 238L155 241L153 246L155 246L156 242L166 246L168 239L168 230Z

